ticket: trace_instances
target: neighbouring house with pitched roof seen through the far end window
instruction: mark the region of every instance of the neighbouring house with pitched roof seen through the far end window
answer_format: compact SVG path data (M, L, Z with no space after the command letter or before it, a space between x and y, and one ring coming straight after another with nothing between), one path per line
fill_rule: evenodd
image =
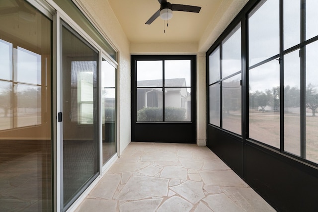
M162 107L162 80L137 81L137 111L144 107ZM185 78L164 80L164 107L184 108L188 114L190 92L187 91ZM190 108L189 108L190 111Z

